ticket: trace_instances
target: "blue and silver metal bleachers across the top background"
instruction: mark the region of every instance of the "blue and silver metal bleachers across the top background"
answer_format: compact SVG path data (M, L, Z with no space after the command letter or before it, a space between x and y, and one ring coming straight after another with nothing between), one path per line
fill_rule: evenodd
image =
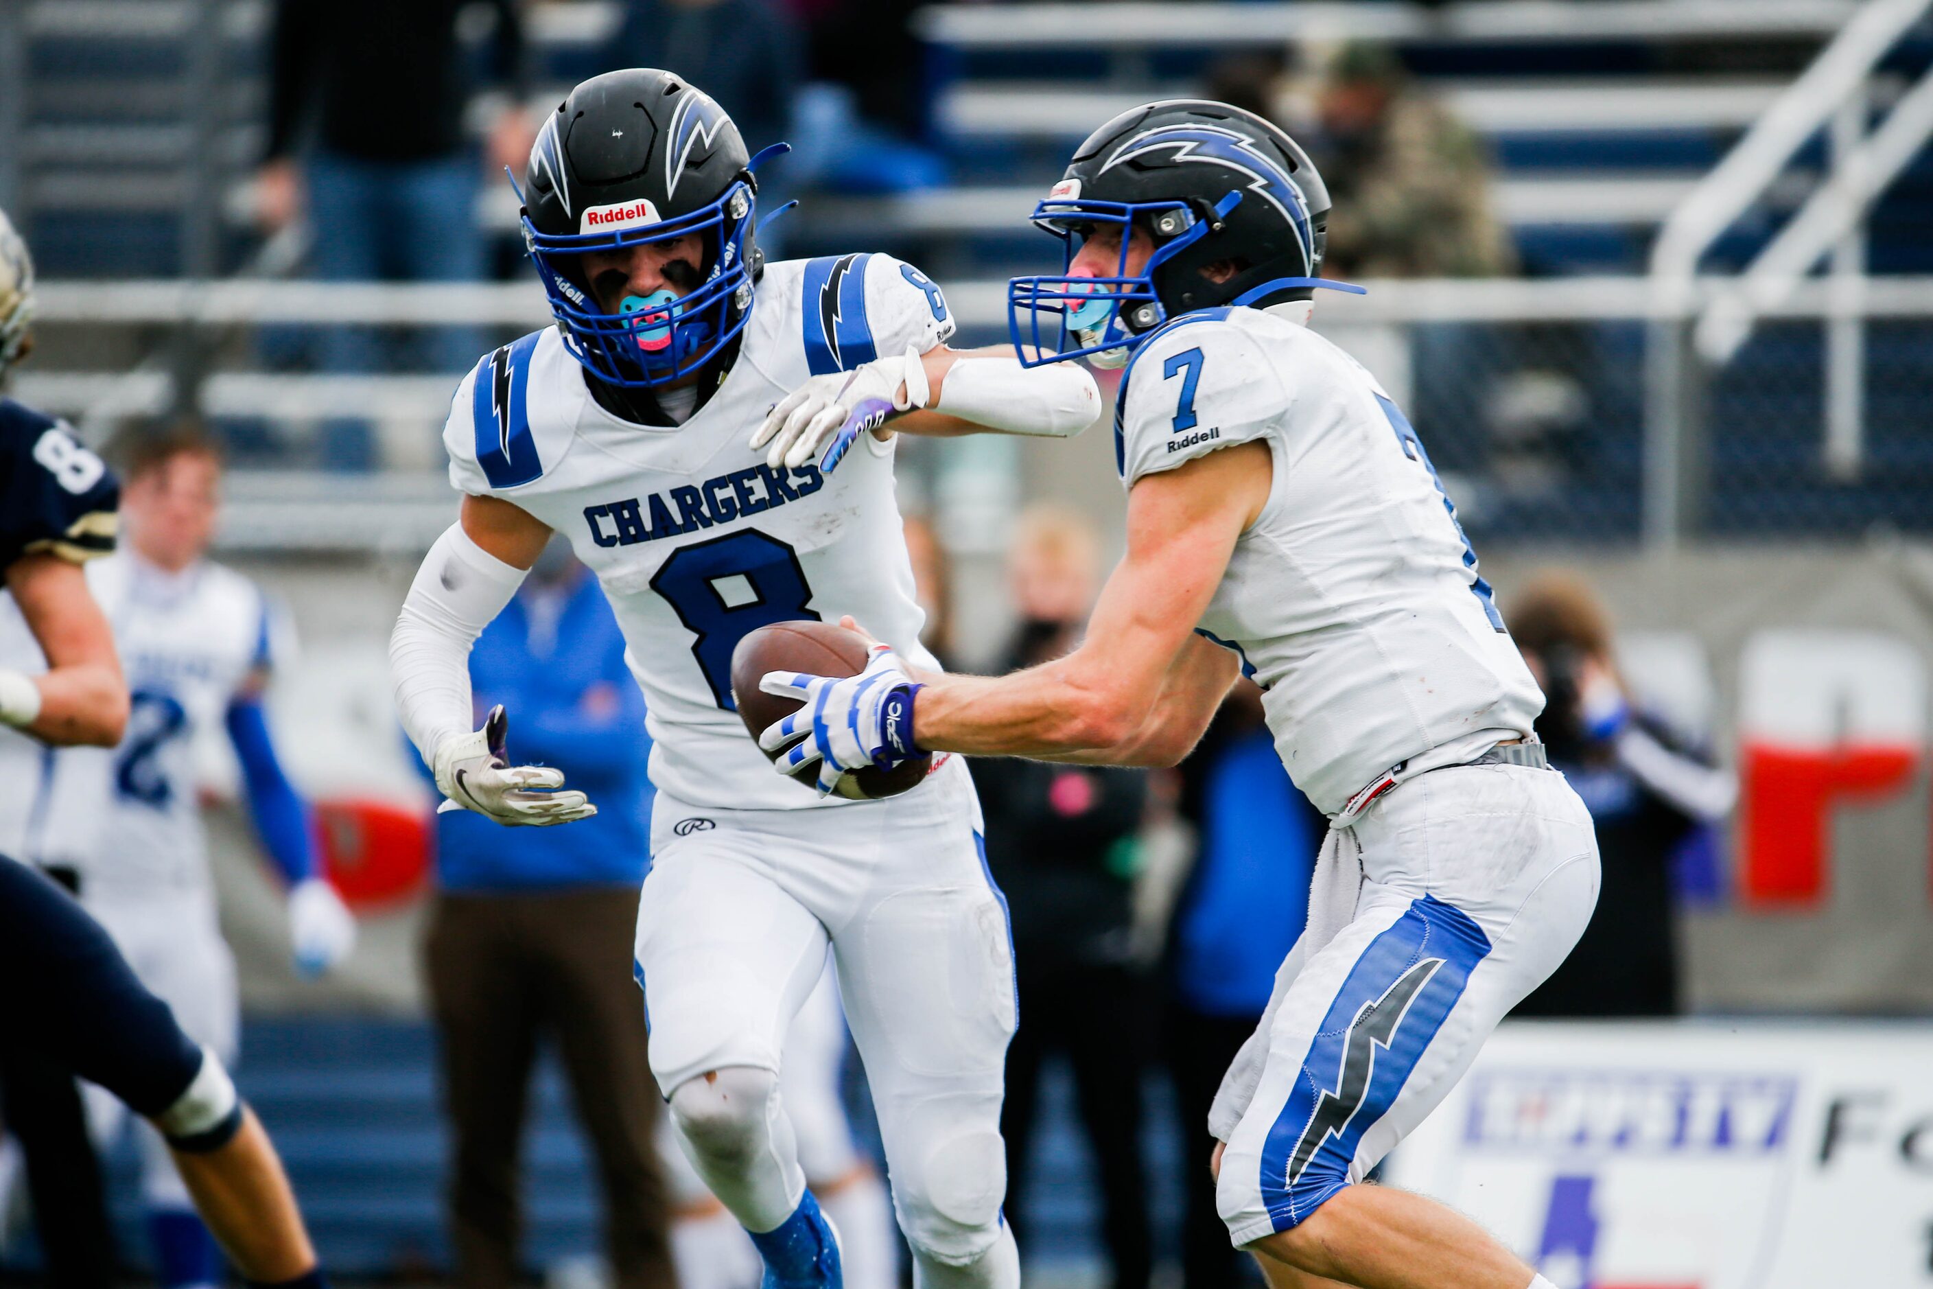
M25 213L43 272L174 276L232 271L245 259L267 4L0 8L0 79L10 62L27 73L17 79L25 93L0 106L0 129L21 139L15 158L0 160L0 203ZM615 8L578 0L534 10L539 100L595 70L593 50ZM1152 95L1195 93L1202 70L1229 48L1386 33L1399 39L1421 83L1488 139L1500 166L1498 209L1533 272L1631 272L1659 220L1852 4L1637 0L1583 6L1626 12L1622 23L1585 25L1539 25L1539 8L1465 2L1448 6L1438 23L1417 23L1411 6L1386 2L1046 4L1026 6L1024 23L1011 19L1017 6L928 10L920 15L932 70L928 135L949 186L822 197L791 232L804 243L883 236L885 249L901 249L897 242L924 251L936 272L999 276L1026 245L1024 215L1067 147L1111 112ZM1142 33L1150 10L1169 10L1168 25ZM1202 21L1204 10L1216 15ZM1229 27L1222 10L1237 10L1239 25ZM1688 17L1672 23L1651 12ZM1185 31L1169 31L1173 14L1185 15ZM1728 15L1738 21L1726 23ZM483 216L508 234L514 211L493 191Z

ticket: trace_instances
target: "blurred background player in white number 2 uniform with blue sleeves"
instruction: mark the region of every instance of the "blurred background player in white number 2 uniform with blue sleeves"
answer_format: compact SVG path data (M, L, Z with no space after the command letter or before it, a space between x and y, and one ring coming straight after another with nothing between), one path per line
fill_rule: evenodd
M226 729L249 816L288 883L296 968L340 960L356 924L315 862L307 804L288 783L263 713L286 628L247 578L205 559L215 533L220 458L193 431L135 443L122 493L122 549L87 566L133 694L114 748L27 750L23 852L77 874L81 902L108 930L135 976L224 1063L240 1038L236 968L216 922L201 827L195 740ZM39 651L10 640L6 661ZM21 758L17 740L0 756ZM118 1103L95 1107L118 1117ZM218 1279L215 1245L195 1216L160 1134L141 1129L143 1190L164 1287Z

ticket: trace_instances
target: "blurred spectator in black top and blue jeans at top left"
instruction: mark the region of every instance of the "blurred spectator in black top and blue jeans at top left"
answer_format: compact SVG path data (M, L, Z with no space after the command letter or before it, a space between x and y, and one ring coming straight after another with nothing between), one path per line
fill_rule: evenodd
M481 0L493 19L479 106L489 118L487 166L466 139L470 52L458 31L466 0L276 0L269 147L259 213L271 228L307 216L315 276L329 282L470 282L483 276L477 182L518 176L532 124L522 100L518 0ZM302 162L298 164L298 155ZM460 373L483 348L468 327L431 332L431 369ZM381 348L365 327L331 327L327 371L377 371ZM375 464L369 427L331 423L327 466Z

